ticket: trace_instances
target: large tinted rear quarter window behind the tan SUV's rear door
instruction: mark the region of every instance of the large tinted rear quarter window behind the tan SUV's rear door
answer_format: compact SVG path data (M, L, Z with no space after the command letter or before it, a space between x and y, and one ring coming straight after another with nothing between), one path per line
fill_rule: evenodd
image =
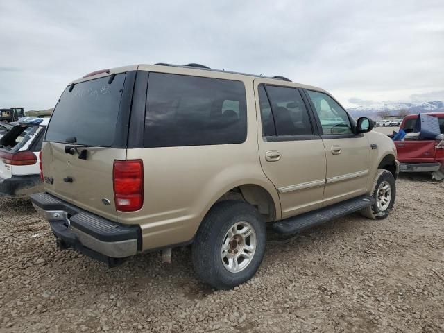
M244 83L149 74L144 146L240 144L246 135Z

